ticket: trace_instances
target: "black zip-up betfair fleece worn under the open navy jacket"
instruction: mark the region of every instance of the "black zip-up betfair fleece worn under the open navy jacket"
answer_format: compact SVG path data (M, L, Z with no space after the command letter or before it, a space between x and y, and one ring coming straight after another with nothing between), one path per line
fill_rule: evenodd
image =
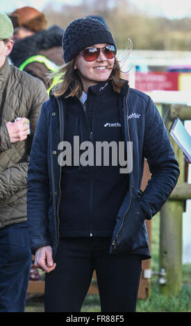
M104 92L99 92L100 85L89 88L85 112L78 98L64 100L64 139L73 144L76 135L80 144L90 141L94 146L94 166L84 166L82 163L80 166L63 167L60 237L111 236L117 212L128 189L128 174L119 173L118 160L117 166L113 166L115 160L112 162L112 151L117 155L118 143L124 141L122 110L119 110L122 96L113 92L109 83L105 87ZM109 166L103 166L106 151L101 153L101 166L96 164L99 155L96 153L97 141L106 141L107 144L115 141L117 145L117 151L116 147L110 148ZM80 155L87 149L81 150ZM72 153L73 150L72 146ZM90 156L87 155L86 160L90 162Z

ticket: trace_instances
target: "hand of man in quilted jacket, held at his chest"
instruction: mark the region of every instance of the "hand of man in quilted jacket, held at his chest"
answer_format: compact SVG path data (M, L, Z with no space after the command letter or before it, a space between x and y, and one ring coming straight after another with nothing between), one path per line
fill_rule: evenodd
M6 127L11 143L17 143L17 141L25 140L29 133L29 126L26 118L19 119L15 122L7 122Z

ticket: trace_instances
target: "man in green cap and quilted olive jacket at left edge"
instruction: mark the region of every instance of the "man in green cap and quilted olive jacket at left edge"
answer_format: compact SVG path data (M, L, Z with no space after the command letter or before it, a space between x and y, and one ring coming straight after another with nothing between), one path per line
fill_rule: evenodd
M9 65L12 36L12 22L0 12L1 312L24 311L25 307L31 269L26 216L28 158L41 105L48 99L41 80Z

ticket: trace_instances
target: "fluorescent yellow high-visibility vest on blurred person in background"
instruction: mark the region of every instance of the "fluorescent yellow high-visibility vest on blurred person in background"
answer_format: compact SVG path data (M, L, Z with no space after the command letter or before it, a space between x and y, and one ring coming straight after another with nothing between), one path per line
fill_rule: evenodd
M44 65L47 67L47 69L49 69L50 71L54 71L56 70L56 68L58 68L58 66L51 60L47 59L46 57L44 57L44 55L33 55L32 57L26 59L22 65L20 65L19 69L20 70L24 70L24 68L26 67L26 65L28 65L31 62L40 62L40 63L44 63ZM51 86L49 87L49 89L47 89L47 92L49 94L51 87L53 87L53 85L55 85L56 83L58 83L58 78L53 78L53 81L51 83Z

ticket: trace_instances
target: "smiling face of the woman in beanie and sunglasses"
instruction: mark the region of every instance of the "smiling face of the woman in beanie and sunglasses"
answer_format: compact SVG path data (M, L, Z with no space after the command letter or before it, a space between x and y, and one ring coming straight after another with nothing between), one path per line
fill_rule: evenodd
M94 44L89 47L103 48L106 45L108 44ZM100 51L97 60L92 62L85 61L83 55L81 54L77 55L75 59L74 69L78 70L78 75L80 76L81 82L83 84L83 91L87 93L88 87L108 80L113 70L114 62L115 58L106 58L106 56L103 54L103 51Z

